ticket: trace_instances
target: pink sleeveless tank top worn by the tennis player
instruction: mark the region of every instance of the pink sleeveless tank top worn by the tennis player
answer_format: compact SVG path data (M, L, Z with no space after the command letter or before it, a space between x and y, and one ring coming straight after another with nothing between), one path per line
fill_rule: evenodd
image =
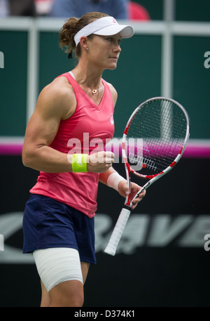
M69 119L61 120L57 135L50 147L60 152L90 154L104 150L113 137L113 100L109 85L104 84L104 96L99 105L87 96L69 72L66 77L76 96L76 110ZM45 173L40 172L30 192L45 195L78 209L89 217L97 210L99 173Z

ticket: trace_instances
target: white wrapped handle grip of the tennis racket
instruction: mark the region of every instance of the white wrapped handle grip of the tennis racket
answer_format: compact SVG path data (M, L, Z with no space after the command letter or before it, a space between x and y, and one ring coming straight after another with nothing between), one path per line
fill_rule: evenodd
M120 216L118 217L116 226L110 237L109 243L107 244L106 249L104 249L105 253L115 256L118 243L120 242L120 238L123 234L123 230L125 229L125 225L130 216L130 212L130 209L122 209Z

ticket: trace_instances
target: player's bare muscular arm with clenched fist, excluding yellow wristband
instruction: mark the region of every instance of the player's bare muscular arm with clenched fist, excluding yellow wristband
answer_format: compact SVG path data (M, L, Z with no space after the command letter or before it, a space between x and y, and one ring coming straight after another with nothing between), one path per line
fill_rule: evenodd
M25 133L22 148L22 162L25 166L48 173L72 171L70 157L50 148L50 143L56 136L61 119L71 117L75 108L73 89L63 77L55 79L43 89ZM100 173L112 165L113 153L100 152L98 162L92 162L93 158L94 155L88 157L87 171Z

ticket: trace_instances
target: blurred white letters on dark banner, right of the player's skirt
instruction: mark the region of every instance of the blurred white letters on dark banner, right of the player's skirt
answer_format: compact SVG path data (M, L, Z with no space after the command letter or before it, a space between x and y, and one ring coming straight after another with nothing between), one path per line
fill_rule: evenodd
M101 218L97 214L104 228L96 234L97 251L104 251L111 231L107 230L109 224L106 220L110 217L103 214ZM107 227L107 228L106 228ZM127 221L125 230L118 244L117 253L133 254L138 247L166 247L174 242L176 247L203 247L204 235L210 231L210 215L155 215L132 214ZM109 235L106 233L109 232Z

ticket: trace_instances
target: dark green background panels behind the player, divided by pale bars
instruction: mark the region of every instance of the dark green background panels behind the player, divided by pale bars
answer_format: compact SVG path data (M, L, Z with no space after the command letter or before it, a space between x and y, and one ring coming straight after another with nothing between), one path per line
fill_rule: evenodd
M153 20L162 19L162 0L139 1ZM176 0L176 19L207 21L210 1ZM76 60L69 60L59 48L58 32L41 32L39 37L38 93ZM28 33L0 31L0 136L24 136L27 109ZM106 70L104 79L118 91L115 136L122 136L127 118L144 100L161 95L162 37L136 34L122 43L116 70ZM210 138L210 68L204 67L204 53L210 51L209 37L174 37L173 98L190 114L190 138Z

